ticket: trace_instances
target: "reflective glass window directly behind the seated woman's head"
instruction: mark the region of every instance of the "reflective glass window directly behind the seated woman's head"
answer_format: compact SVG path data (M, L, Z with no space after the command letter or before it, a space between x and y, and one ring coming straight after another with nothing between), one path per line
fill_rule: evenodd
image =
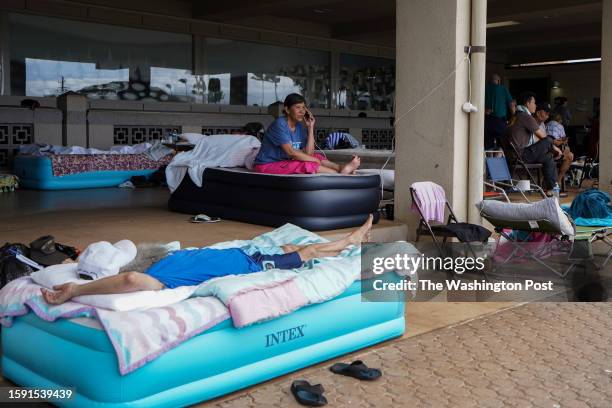
M311 107L329 108L329 52L207 38L204 60L221 103L268 106L297 92Z

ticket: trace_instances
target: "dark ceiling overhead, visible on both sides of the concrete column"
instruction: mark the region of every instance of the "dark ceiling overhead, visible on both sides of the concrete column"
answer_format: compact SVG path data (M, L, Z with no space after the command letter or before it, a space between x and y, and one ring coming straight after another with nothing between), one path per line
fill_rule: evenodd
M395 45L396 0L226 0L192 1L192 17L225 23L283 28L304 34ZM409 0L401 0L409 1ZM489 0L489 59L524 63L599 57L601 0Z

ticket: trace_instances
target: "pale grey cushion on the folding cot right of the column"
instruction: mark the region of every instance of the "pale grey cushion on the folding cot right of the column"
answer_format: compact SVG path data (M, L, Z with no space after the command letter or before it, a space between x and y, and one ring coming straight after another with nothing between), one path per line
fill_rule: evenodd
M496 200L483 200L476 204L483 213L508 221L548 220L564 235L574 236L576 231L559 206L556 197L546 198L536 203L506 203Z

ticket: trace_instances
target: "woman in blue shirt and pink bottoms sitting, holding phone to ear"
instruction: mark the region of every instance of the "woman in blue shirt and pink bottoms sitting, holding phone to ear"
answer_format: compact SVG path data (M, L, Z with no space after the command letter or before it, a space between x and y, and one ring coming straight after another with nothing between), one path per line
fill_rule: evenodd
M268 174L353 174L361 164L358 156L340 165L315 153L315 117L300 94L289 94L283 105L284 116L266 129L253 169Z

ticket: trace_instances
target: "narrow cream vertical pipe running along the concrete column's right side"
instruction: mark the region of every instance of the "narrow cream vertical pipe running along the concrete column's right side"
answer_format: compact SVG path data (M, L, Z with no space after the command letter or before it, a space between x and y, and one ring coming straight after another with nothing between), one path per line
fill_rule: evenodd
M472 104L478 112L470 114L469 167L467 221L480 224L482 219L476 203L482 200L483 155L484 155L484 91L487 67L484 46L487 43L487 0L472 0L471 15L472 58L470 81L472 83Z

